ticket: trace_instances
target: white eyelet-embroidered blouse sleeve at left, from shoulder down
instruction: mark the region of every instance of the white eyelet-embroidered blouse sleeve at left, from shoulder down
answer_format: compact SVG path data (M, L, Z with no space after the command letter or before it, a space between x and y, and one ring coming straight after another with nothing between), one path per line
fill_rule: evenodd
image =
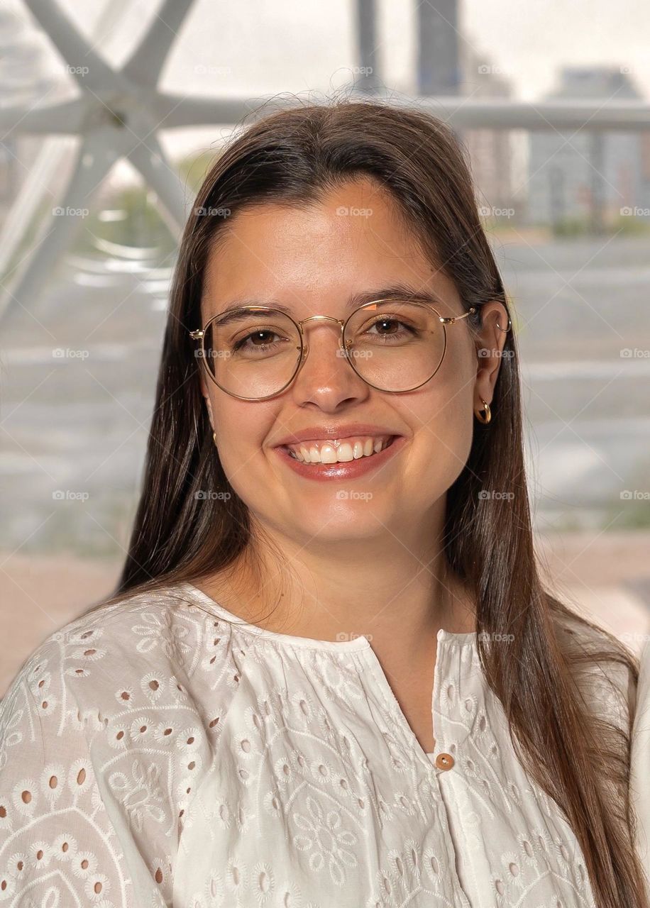
M195 612L173 590L123 597L51 634L15 676L0 701L3 894L169 903L164 855L219 728L210 621Z

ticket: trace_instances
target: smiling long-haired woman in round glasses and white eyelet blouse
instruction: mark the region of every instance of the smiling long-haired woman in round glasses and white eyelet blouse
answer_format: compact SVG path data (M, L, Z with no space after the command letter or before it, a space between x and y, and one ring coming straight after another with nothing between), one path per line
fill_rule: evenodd
M540 580L453 133L271 114L182 238L115 595L5 697L0 898L642 908L643 666Z

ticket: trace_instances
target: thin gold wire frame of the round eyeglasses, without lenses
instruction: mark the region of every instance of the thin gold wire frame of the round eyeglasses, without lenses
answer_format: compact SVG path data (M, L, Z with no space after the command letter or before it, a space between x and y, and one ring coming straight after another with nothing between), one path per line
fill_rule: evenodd
M291 383L296 380L296 376L300 372L300 369L302 368L305 360L307 359L307 354L309 353L310 348L309 348L309 344L305 343L305 336L304 336L304 333L302 330L302 326L307 324L308 321L334 321L334 322L336 322L336 324L340 325L340 339L339 340L340 340L340 350L342 350L342 353L343 353L343 359L345 359L350 364L350 368L355 371L355 373L359 376L359 379L365 381L366 384L369 385L370 388L374 388L376 390L383 391L386 394L405 394L408 391L418 390L418 388L421 388L422 385L426 385L427 382L430 381L434 377L434 375L436 374L436 372L442 365L443 360L445 359L445 353L447 352L447 326L453 325L457 321L461 321L462 319L467 319L469 315L472 315L474 312L478 311L478 305L480 305L480 303L479 303L478 305L471 306L467 312L463 313L463 315L444 316L444 315L440 315L438 310L434 306L430 305L430 303L419 302L416 300L414 300L414 301L409 300L409 305L421 306L423 309L433 312L434 315L438 318L438 321L440 321L442 323L443 336L444 336L444 345L442 348L442 356L440 357L440 361L438 362L438 365L436 366L435 370L433 370L433 372L431 372L428 379L426 379L424 381L420 381L419 385L415 385L413 388L407 388L407 389L402 389L402 390L398 390L398 391L390 391L390 390L386 390L384 388L379 388L377 385L371 384L371 382L369 382L369 380L365 379L360 374L359 370L357 370L353 361L350 359L349 350L350 350L352 341L345 340L345 329L346 329L350 319L352 319L359 311L361 311L363 309L368 309L370 306L376 306L378 303L384 303L384 302L403 303L404 301L403 300L392 300L392 299L390 299L390 297L387 297L385 299L371 300L369 302L365 302L362 306L359 306L357 309L350 312L350 315L348 316L348 318L345 321L342 321L341 319L335 319L334 316L332 316L332 315L310 315L310 317L308 319L302 319L301 321L295 321L295 319L291 318L291 315L289 315L288 312L284 312L279 309L273 309L271 306L242 306L241 311L273 312L273 313L279 314L281 316L284 316L285 318L289 319L289 321L291 321L295 325L296 330L298 331L298 334L300 336L300 347L297 348L297 350L300 350L300 356L297 360L296 368L293 371L293 375L291 376L291 379L289 381L287 381L287 383L285 385L283 385L283 387L280 390L273 391L272 394L266 394L263 397L254 397L254 398L242 397L241 394L235 394L233 391L229 391L227 388L223 388L222 385L220 385L219 382L216 380L215 376L212 374L212 371L210 370L210 368L208 367L208 365L206 363L205 348L203 346L205 334L208 331L208 329L210 328L210 325L212 324L213 321L216 321L217 319L221 319L224 315L228 314L228 312L219 312L219 313L217 313L217 315L213 315L212 318L208 319L208 321L205 322L205 324L203 325L202 328L199 328L196 331L189 331L188 333L190 334L190 337L192 338L193 341L201 341L201 357L200 358L202 360L203 369L207 372L208 376L212 379L212 381L218 388L220 388L222 391L225 391L226 394L230 394L231 397L237 398L238 400L270 400L271 398L277 397L278 394L281 394L283 391L285 391L285 390L287 390L287 388L289 388ZM508 324L509 324L509 321L510 320L508 319Z

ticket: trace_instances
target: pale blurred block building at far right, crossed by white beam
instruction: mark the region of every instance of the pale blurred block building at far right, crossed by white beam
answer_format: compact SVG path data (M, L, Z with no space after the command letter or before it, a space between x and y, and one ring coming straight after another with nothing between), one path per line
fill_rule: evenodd
M624 67L566 67L548 100L637 99ZM549 129L530 133L528 221L584 222L598 232L650 204L650 133Z

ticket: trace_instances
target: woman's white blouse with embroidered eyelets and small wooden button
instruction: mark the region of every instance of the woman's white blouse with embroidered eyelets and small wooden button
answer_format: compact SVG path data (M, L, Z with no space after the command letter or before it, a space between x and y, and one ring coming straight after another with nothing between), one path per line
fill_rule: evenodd
M649 662L646 647L633 749L646 869ZM190 584L80 617L0 704L0 904L594 906L473 634L438 631L432 691L427 755L367 637L266 631ZM619 676L595 702L627 725L628 696Z

